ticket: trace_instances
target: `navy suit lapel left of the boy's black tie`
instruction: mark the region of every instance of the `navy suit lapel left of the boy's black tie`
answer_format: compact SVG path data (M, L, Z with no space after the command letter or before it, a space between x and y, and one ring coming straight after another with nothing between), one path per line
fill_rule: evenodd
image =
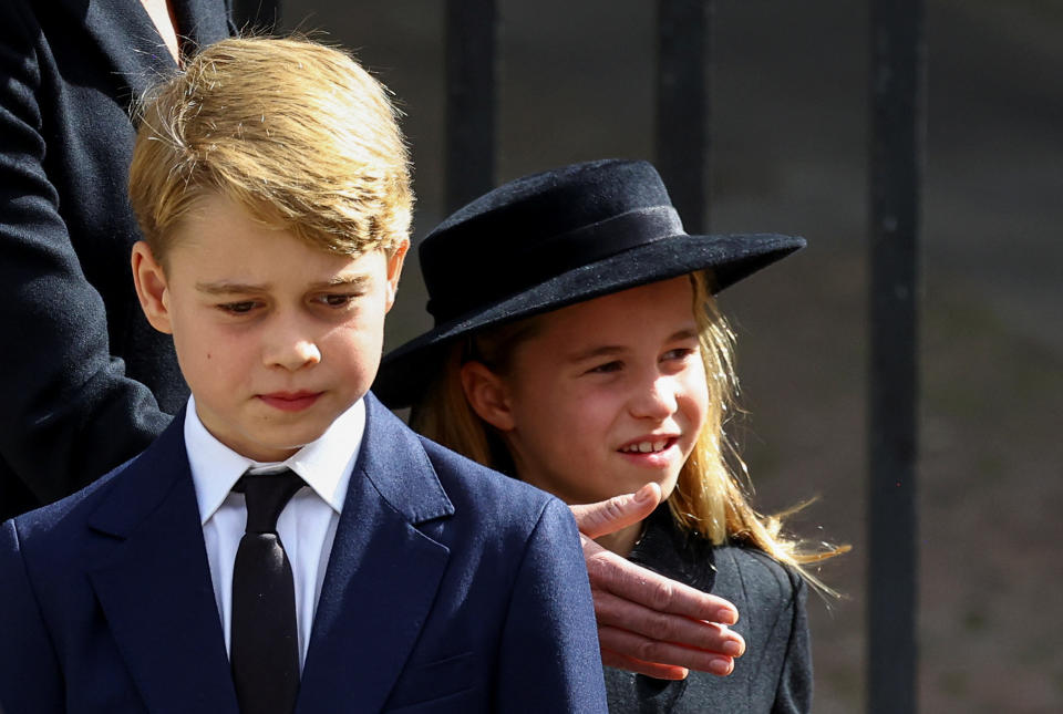
M178 416L90 521L116 538L90 579L151 712L236 714Z

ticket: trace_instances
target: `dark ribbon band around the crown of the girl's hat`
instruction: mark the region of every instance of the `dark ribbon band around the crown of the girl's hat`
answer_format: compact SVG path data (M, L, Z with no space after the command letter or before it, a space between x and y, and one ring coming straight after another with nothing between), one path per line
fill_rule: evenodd
M441 324L478 307L517 294L551 278L618 253L683 234L683 223L671 206L638 208L568 232L534 241L509 256L509 271L499 271L495 284L471 281L472 292L452 286L448 300L432 298L427 310ZM518 275L514 275L519 270Z

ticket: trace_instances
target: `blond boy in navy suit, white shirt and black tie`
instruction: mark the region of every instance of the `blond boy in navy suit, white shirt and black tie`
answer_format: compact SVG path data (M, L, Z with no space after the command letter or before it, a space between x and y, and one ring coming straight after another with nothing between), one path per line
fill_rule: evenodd
M7 714L605 711L568 510L369 393L409 184L337 50L226 40L147 99L133 273L193 396L0 527Z

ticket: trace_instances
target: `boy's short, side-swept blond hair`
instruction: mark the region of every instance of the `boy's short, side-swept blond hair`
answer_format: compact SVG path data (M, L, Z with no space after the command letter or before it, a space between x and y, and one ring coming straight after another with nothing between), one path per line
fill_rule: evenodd
M140 102L130 201L152 251L206 194L330 252L407 239L410 162L389 93L306 39L205 48Z

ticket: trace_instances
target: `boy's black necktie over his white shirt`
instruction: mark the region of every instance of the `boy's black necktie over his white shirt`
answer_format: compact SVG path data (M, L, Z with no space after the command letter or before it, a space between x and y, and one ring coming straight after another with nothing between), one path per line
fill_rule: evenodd
M290 470L245 474L247 532L233 568L229 659L240 714L291 714L299 694L299 634L291 565L277 517L303 480Z

